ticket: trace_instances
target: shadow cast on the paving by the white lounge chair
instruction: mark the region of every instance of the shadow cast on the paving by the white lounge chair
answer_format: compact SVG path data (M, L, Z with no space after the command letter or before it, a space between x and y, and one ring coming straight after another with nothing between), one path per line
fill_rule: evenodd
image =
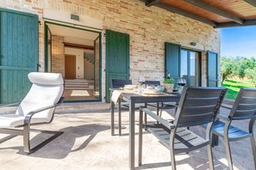
M59 131L64 131L64 133L54 139L51 143L48 143L43 148L37 150L33 154L29 156L33 157L41 157L48 159L63 159L67 155L72 152L78 152L79 150L85 149L86 146L91 143L94 137L97 136L97 133L101 131L109 130L109 126L100 125L100 124L84 124L78 126L66 127L64 129L60 129ZM31 139L31 145L33 147L33 143L40 143L42 140L45 140L49 137L47 134L37 134L35 137ZM77 138L84 137L84 142L79 146L75 146L76 149L72 149L74 144L76 143ZM20 137L22 143L22 137ZM15 139L11 139L15 140ZM0 148L0 149L16 149L18 150L17 154L26 155L23 152L23 147L9 147L9 148Z

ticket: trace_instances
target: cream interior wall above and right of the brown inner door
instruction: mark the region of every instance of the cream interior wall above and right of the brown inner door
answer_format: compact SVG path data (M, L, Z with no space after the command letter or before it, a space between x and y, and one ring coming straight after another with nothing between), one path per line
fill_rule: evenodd
M84 78L84 51L66 47L65 54L76 56L76 78Z

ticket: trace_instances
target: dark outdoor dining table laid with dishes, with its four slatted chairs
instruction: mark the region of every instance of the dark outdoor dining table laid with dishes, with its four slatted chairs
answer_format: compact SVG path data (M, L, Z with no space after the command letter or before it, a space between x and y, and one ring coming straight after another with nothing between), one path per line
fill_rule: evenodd
M151 84L148 84L151 82ZM256 89L241 88L233 106L222 105L226 88L203 88L184 87L182 91L164 93L156 89L147 88L159 86L158 81L146 81L140 89L130 85L131 81L112 80L111 91L111 135L115 135L115 105L118 105L119 115L119 135L122 135L122 107L129 109L129 167L135 167L135 111L139 112L139 166L142 164L142 131L151 132L159 139L167 149L170 150L172 169L176 169L175 155L188 153L192 150L207 147L209 157L209 167L214 169L212 146L218 137L222 137L225 144L229 169L233 169L233 161L229 142L237 141L249 137L253 151L254 167L256 169L256 147L253 137L253 124L256 119ZM151 85L151 86L149 86ZM153 85L153 86L152 86ZM140 106L137 106L140 104ZM156 112L147 106L156 106ZM175 109L173 120L166 120L159 115L162 106L169 105ZM228 117L222 115L220 107L230 110ZM151 107L152 108L152 107ZM144 118L143 118L144 116ZM147 122L147 116L153 118L155 122ZM243 131L239 127L231 125L231 122L249 119L248 131ZM200 137L197 133L190 131L191 126L200 126L205 129L205 137Z

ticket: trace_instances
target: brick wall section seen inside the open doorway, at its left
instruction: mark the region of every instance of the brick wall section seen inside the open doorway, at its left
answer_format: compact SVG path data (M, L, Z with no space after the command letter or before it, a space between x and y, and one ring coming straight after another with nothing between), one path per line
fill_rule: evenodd
M52 36L52 72L61 73L65 76L65 48L64 37L53 35Z

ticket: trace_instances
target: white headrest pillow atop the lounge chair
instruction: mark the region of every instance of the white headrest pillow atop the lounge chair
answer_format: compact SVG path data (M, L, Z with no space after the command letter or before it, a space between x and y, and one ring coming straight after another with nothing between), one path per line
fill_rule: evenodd
M64 83L63 78L59 73L31 72L28 74L28 79L34 84L41 85L61 85Z

